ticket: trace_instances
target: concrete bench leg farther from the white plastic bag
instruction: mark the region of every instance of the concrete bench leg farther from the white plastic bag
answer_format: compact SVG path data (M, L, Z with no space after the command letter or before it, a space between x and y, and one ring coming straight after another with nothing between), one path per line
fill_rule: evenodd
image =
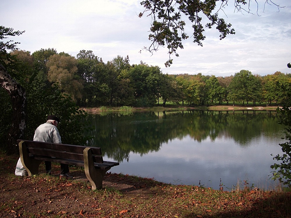
M85 148L83 153L85 174L92 185L92 190L102 189L103 177L109 169L102 170L95 168L91 148Z

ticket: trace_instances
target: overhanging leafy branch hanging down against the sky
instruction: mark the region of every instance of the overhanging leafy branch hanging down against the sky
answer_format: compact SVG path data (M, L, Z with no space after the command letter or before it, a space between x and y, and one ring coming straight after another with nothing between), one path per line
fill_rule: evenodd
M234 28L231 24L227 24L225 20L219 15L222 11L224 15L224 8L228 6L230 0L145 0L141 1L144 6L144 11L139 13L139 17L148 14L147 17L152 17L150 27L149 40L152 42L149 47L144 47L142 50L147 50L153 53L159 49L159 46L167 47L169 59L165 62L165 66L169 67L173 63L171 56L179 56L177 49L183 49L183 40L189 38L189 35L184 31L186 26L185 20L192 23L193 28L193 42L203 46L202 41L205 39L204 31L206 28L216 26L220 32L220 40L225 38L228 34L235 34ZM232 0L231 0L232 1ZM251 0L233 0L235 10L237 12L251 13ZM257 15L259 4L257 4ZM266 0L265 5L274 5L278 8L283 8L271 0ZM187 18L186 18L186 17ZM184 17L186 18L185 20ZM207 18L208 22L203 26L202 18Z

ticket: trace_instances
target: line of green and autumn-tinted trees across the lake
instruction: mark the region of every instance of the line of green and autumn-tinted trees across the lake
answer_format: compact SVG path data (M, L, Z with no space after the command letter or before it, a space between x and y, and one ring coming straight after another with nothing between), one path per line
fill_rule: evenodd
M117 56L104 63L92 51L82 50L73 57L55 49L15 50L10 75L24 87L31 81L55 85L70 95L77 106L149 107L172 102L184 105L253 105L286 102L285 85L291 74L275 72L267 76L241 70L231 76L163 74L158 66L142 61L130 65L129 57ZM36 87L35 87L36 88Z

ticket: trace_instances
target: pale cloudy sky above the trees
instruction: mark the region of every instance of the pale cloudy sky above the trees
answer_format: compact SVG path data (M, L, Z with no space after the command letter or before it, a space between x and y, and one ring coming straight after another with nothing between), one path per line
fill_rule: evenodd
M144 8L141 0L1 0L0 25L25 31L12 37L25 51L54 48L76 57L79 51L93 51L103 62L118 55L129 56L129 63L141 61L159 66L164 74L198 74L230 76L248 70L261 76L276 71L291 73L291 1L272 0L280 5L251 0L251 13L235 12L233 0L221 12L231 23L235 35L219 40L219 32L205 28L203 47L191 37L191 23L185 30L189 38L165 67L168 50L159 47L151 54L143 50L148 40L151 17L139 18ZM258 9L258 12L257 12ZM203 19L204 21L204 19ZM206 22L206 21L205 21Z

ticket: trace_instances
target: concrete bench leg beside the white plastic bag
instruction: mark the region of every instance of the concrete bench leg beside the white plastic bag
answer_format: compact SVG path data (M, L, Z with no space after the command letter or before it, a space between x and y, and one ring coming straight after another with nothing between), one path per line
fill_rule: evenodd
M22 165L27 170L28 176L38 174L38 167L42 160L30 158L24 143L24 141L19 142L19 154Z

